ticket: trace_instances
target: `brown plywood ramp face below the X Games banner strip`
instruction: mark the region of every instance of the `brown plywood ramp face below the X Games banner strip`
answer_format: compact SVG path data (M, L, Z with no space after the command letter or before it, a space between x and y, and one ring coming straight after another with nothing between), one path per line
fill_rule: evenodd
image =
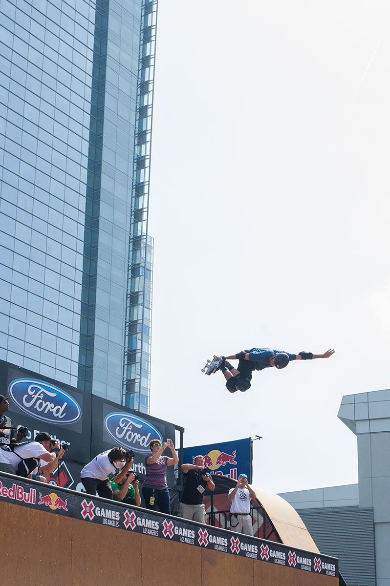
M0 502L0 518L2 584L338 586L338 578L10 503Z

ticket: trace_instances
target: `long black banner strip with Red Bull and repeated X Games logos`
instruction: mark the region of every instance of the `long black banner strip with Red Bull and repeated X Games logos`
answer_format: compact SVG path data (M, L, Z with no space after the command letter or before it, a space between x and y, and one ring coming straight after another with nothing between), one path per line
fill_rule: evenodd
M338 577L337 558L291 549L283 543L95 498L74 490L44 486L27 479L15 481L1 473L0 500L88 524L97 523L128 533L141 533L169 542L177 541L187 546L219 551L222 555L249 557L259 563L284 565L293 570Z

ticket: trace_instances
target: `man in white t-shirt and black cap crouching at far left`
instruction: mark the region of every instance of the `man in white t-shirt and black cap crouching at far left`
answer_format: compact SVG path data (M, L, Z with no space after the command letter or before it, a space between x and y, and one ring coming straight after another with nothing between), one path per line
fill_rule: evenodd
M15 474L20 462L27 458L36 458L37 466L39 466L39 460L53 464L58 455L52 452L56 444L57 441L53 440L46 431L43 431L36 435L35 441L15 445L13 451L0 449L0 471ZM25 476L28 476L28 472Z

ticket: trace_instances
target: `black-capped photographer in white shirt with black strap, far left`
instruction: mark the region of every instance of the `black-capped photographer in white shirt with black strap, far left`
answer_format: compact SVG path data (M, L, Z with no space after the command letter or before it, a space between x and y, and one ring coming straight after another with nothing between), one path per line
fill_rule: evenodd
M13 446L2 446L0 449L0 471L29 476L43 460L47 464L55 464L58 453L52 450L59 444L46 432L36 435L35 441Z

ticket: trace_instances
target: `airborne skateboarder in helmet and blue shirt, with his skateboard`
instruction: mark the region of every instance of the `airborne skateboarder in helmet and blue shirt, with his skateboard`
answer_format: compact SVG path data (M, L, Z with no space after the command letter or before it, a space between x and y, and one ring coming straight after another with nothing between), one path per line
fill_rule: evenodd
M299 354L290 354L282 350L271 350L270 348L250 348L238 352L232 356L214 356L213 360L206 363L202 372L212 374L217 370L222 370L226 379L226 388L230 393L236 391L246 391L250 387L253 370L263 370L276 366L277 369L284 368L290 360L314 360L315 358L329 358L334 354L333 349L329 349L323 354L313 354L311 352L300 352ZM235 368L228 362L229 360L238 360L238 367Z

